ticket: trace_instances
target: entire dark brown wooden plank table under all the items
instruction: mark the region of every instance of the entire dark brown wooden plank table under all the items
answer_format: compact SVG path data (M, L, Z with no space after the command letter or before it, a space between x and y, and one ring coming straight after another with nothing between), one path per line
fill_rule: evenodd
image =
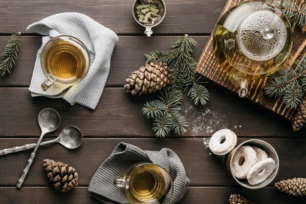
M302 204L306 200L278 192L274 181L250 190L240 187L223 169L221 158L210 155L203 137L221 128L235 131L238 142L261 138L279 154L280 169L275 181L306 177L306 131L293 133L289 121L249 101L208 84L210 100L205 107L192 105L184 95L183 114L189 121L187 134L156 139L152 122L142 114L145 101L153 95L132 97L122 86L131 71L145 63L144 54L168 50L178 36L190 34L197 41L195 59L202 51L223 8L225 0L166 0L164 21L144 36L144 28L131 15L133 0L2 0L0 2L0 51L8 35L22 32L22 51L12 74L0 78L0 148L36 142L40 136L38 113L47 107L57 110L61 127L45 136L58 136L67 125L79 127L85 139L76 150L59 144L44 146L24 182L15 185L31 151L0 157L0 204L96 204L88 196L91 177L121 141L147 150L173 149L181 158L190 188L180 204L227 204L231 193L241 193L257 204ZM61 12L80 12L114 30L119 36L109 78L95 111L70 106L63 99L32 98L28 91L41 36L26 31L27 25ZM67 193L51 187L42 167L43 159L63 161L79 173L79 186Z

